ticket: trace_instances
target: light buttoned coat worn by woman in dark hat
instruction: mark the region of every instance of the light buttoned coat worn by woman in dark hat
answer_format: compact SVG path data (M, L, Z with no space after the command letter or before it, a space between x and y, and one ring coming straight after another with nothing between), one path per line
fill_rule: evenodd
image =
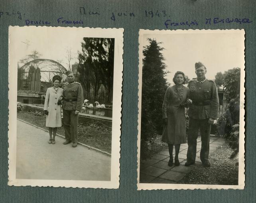
M45 94L43 110L48 111L46 115L46 127L61 127L61 106L57 105L59 98L63 94L63 89L56 91L53 87L48 88Z

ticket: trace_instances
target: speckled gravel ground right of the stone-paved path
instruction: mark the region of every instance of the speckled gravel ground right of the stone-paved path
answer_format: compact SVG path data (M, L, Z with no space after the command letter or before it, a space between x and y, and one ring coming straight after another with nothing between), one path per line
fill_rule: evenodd
M196 167L179 184L238 185L238 155L230 159L233 150L228 144L211 154L211 167Z

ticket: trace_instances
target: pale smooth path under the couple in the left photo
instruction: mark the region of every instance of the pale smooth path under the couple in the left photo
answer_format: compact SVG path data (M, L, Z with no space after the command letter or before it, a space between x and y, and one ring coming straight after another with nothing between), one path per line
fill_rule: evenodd
M110 180L111 157L83 145L48 144L43 129L17 119L17 179Z

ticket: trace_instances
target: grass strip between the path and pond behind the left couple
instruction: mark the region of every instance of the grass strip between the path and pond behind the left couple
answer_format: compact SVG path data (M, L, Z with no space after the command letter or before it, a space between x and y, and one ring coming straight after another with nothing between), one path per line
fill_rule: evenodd
M28 123L41 127L48 130L45 127L45 115L36 115L35 113L28 111L21 111L17 113L17 117ZM65 136L65 131L63 127L57 129L59 135ZM104 125L97 123L89 123L87 126L78 127L78 141L87 144L89 146L98 148L102 151L111 153L111 136L112 129Z

